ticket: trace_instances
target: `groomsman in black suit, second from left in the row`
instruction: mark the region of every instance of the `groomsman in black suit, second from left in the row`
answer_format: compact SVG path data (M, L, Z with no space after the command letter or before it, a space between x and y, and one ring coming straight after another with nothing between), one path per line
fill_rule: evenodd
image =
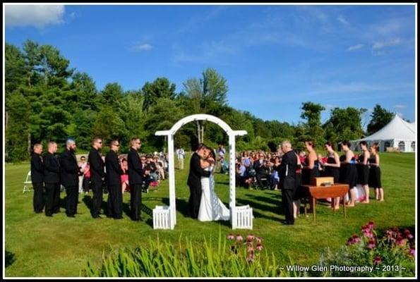
M52 216L60 212L60 164L54 155L57 152L57 143L48 143L48 152L44 157L44 183L47 192L45 202L45 215Z

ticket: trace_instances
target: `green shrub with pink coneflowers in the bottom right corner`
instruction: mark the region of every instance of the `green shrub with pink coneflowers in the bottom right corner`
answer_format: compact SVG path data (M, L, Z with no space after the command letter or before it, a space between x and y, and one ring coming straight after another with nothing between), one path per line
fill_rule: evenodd
M361 237L354 234L347 240L347 245L337 252L326 249L320 256L319 265L327 266L328 271L312 271L311 275L319 276L368 276L368 277L401 277L414 276L414 235L405 229L391 228L382 237L369 222L361 228ZM347 266L338 269L336 266ZM369 266L371 270L358 271L357 266ZM352 268L354 271L351 271Z

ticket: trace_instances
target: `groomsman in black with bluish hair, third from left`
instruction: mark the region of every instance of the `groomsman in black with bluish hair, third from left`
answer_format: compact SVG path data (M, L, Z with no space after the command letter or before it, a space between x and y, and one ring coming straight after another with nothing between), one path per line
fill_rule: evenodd
M77 214L79 196L79 167L75 152L76 142L69 139L66 142L66 151L60 156L61 184L66 188L66 215L68 217L75 217L74 215Z

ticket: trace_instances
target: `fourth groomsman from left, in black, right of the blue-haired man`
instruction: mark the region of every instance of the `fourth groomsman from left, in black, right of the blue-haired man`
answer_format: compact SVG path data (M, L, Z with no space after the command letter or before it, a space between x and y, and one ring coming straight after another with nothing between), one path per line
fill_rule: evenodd
M102 149L102 140L95 137L92 141L92 149L89 152L88 163L90 166L90 180L92 182L92 210L91 214L94 219L100 219L100 209L102 206L102 193L104 188L105 172L104 160L100 154Z

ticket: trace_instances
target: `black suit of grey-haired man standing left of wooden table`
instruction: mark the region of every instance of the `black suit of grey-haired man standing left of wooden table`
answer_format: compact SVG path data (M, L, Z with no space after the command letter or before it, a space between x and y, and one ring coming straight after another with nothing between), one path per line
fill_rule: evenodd
M282 163L278 166L280 188L282 189L282 201L286 223L293 224L293 197L296 192L296 168L297 157L293 151L289 151L282 157Z

